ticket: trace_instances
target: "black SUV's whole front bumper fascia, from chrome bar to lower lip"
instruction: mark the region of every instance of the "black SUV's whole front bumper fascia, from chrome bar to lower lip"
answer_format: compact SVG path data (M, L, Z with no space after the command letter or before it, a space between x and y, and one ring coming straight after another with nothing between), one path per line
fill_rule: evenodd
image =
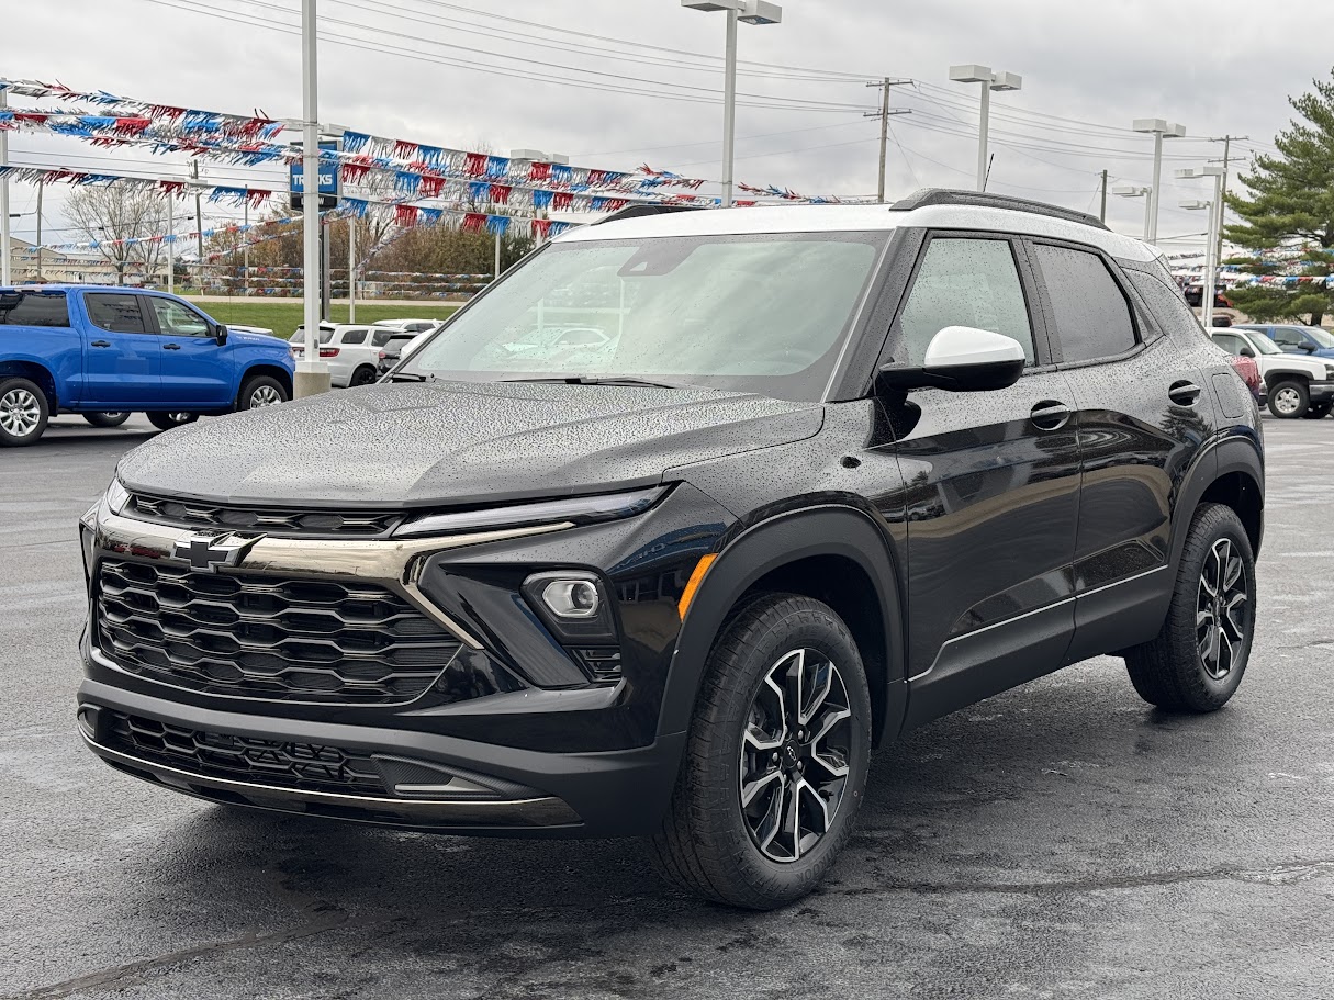
M192 688L112 659L111 647L104 652L99 639L103 563L156 567L153 572L164 575L184 571L179 544L196 531L119 516L100 504L84 523L92 583L91 628L81 643L83 739L121 772L212 801L451 833L651 833L671 797L686 740L682 732L660 733L658 725L679 628L676 593L663 580L682 579L680 568L694 565L712 544L724 525L702 524L702 517L716 516L715 509L683 488L675 503L639 519L588 528L562 524L419 540L268 535L248 541L236 560L204 577L217 584L241 580L249 591L263 591L264 580L313 580L350 592L374 584L459 640L459 655L423 695L354 704L293 699L289 692L287 700L239 696L220 691L220 684ZM622 632L619 681L591 683L572 656L544 637L531 613L519 613L522 601L506 581L539 565L612 567L604 572ZM219 593L209 588L196 596L216 609L225 604ZM167 632L168 617L179 620L193 603L168 601L147 624ZM192 616L195 625L203 632L217 628L203 615ZM195 641L189 635L184 640ZM184 731L199 744L203 763L117 743L107 721L112 717L133 717L176 736ZM253 772L212 767L216 757L209 755L219 747L240 748ZM486 793L475 787L466 799L447 788L400 793L392 780L348 789L328 781L309 787L269 780L269 757L321 760L324 751L372 769L384 761L434 768L447 772L444 784L448 773L458 773L476 779Z

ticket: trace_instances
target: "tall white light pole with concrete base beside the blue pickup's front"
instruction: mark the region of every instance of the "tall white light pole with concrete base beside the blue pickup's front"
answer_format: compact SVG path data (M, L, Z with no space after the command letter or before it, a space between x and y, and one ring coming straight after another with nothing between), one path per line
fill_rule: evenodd
M301 0L301 297L305 352L296 363L297 399L329 389L329 367L320 360L320 115L316 91L315 0Z

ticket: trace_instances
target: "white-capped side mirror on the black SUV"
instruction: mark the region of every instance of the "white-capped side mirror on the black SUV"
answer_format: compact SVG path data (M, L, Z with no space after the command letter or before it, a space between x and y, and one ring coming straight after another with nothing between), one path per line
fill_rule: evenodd
M984 392L1014 385L1023 365L1018 340L988 329L946 327L931 337L920 367L883 365L875 383L880 391Z

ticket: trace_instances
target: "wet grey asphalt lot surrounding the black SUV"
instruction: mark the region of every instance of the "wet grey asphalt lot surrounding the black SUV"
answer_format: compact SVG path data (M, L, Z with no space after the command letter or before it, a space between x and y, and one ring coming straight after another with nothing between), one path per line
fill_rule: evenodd
M75 521L143 417L0 453L0 996L1334 997L1334 419L1266 419L1234 701L1099 659L880 752L822 892L740 913L635 843L225 809L80 745Z

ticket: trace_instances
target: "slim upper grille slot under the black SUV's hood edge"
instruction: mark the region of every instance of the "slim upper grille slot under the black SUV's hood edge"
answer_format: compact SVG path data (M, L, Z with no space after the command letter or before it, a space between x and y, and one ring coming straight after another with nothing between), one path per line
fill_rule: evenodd
M196 500L131 495L125 513L144 521L179 528L263 531L273 536L356 537L387 536L403 515L391 511L292 511L277 507L231 507Z

